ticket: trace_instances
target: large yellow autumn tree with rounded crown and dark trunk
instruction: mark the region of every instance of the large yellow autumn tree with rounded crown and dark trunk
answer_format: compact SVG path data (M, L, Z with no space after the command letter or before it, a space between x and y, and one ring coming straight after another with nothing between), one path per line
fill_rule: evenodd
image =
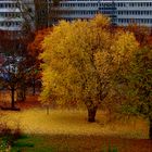
M102 15L89 22L62 21L53 27L40 55L42 102L84 102L88 122L96 121L98 106L109 93L110 79L138 47L134 35L111 31L110 20Z

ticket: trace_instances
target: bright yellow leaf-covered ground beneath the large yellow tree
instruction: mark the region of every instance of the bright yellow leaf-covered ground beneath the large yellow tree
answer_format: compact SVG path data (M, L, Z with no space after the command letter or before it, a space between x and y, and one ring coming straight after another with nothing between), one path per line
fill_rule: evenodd
M87 122L87 111L51 110L47 115L43 109L21 112L2 112L2 122L11 128L20 126L24 134L48 135L101 135L127 138L148 138L148 124L141 118L126 122L106 123L106 114L99 111L97 123Z

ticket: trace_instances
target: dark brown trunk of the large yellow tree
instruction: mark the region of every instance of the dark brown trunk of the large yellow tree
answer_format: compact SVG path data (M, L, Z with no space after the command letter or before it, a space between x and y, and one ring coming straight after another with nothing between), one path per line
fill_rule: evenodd
M96 122L97 106L88 107L88 122Z

